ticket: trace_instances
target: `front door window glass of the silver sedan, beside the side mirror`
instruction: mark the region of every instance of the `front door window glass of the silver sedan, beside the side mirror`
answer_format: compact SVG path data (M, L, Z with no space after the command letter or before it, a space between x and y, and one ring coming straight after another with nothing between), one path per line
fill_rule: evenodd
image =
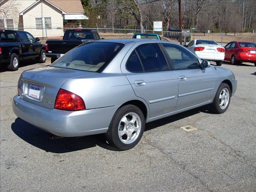
M200 68L198 59L188 50L174 44L162 44L170 59L174 69L195 69Z

